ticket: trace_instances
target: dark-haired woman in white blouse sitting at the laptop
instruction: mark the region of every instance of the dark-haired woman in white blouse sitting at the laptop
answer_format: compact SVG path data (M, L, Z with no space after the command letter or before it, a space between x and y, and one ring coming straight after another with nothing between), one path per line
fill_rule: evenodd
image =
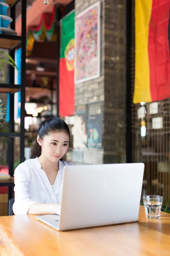
M60 214L63 167L73 165L61 158L68 150L70 130L57 117L42 122L31 159L14 173L14 214Z

